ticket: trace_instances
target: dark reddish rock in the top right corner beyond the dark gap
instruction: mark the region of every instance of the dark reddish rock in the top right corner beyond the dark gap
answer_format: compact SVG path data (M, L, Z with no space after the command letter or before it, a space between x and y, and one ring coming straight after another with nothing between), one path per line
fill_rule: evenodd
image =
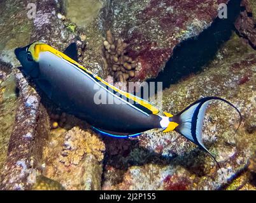
M241 3L244 11L241 11L238 20L236 20L236 29L239 35L245 37L246 40L254 48L256 48L256 4L253 0L243 0Z

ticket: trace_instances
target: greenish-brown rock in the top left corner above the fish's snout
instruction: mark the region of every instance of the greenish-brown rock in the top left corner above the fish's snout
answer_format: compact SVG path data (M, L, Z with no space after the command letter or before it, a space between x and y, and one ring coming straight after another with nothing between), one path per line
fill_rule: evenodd
M0 58L13 66L19 64L14 49L30 42L32 20L27 17L27 11L27 1L7 0L0 3Z

